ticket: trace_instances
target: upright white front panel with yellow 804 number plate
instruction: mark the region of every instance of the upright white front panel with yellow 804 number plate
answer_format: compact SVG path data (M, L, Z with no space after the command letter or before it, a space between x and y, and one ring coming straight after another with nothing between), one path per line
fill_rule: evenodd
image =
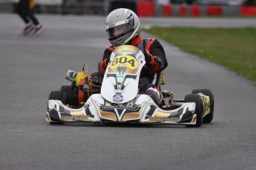
M123 51L127 52L118 48L112 52L102 81L101 95L111 103L126 103L137 96L140 71L145 64L139 49L126 46Z

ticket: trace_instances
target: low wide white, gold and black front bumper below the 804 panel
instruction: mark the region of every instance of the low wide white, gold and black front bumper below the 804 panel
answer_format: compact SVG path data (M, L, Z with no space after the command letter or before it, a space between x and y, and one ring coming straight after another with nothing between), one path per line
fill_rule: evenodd
M134 123L172 123L178 124L186 112L194 112L195 103L183 103L178 109L165 111L157 107L148 95L140 95L134 106L119 104L112 106L105 102L100 94L91 95L88 101L80 109L70 109L61 101L49 100L50 110L55 109L59 120L65 122L134 122ZM131 112L137 110L137 112ZM47 121L50 120L47 112ZM133 121L134 120L134 121ZM180 124L195 124L197 115L193 115L191 122Z

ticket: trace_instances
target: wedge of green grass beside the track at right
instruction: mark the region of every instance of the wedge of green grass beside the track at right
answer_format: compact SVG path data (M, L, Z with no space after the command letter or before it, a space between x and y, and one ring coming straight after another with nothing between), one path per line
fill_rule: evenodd
M256 28L151 27L145 30L256 83Z

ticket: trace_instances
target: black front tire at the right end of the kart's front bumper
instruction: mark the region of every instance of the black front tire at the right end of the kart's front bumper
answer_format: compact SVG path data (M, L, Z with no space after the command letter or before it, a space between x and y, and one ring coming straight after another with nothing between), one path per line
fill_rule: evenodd
M197 122L195 125L187 125L188 127L200 127L202 125L203 122L203 115L202 115L202 111L203 111L203 101L200 97L200 95L196 95L196 94L190 94L190 95L186 95L184 102L194 102L196 103L196 109L195 109L195 114L197 115Z

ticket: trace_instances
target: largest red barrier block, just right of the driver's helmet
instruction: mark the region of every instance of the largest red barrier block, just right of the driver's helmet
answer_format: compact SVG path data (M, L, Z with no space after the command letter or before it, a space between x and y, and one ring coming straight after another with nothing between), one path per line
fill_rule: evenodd
M153 1L138 1L137 16L154 16L155 4Z

